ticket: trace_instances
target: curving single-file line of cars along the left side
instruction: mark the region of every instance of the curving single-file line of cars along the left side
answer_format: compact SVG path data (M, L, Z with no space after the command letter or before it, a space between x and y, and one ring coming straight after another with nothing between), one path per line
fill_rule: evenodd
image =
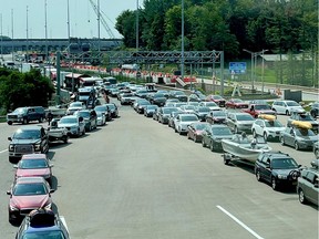
M28 112L31 106L25 108ZM51 195L56 185L52 174L53 164L48 157L49 148L54 146L53 143L58 139L68 143L69 137L85 135L117 116L115 103L96 105L91 110L86 108L83 102L73 102L65 115L50 118L48 127L37 124L45 121L44 115L8 122L9 125L22 123L12 136L8 137L9 162L16 169L14 180L7 191L8 217L10 224L20 225L16 238L70 238L64 218L52 211ZM11 121L12 117L8 118ZM59 136L59 131L64 132L66 138Z

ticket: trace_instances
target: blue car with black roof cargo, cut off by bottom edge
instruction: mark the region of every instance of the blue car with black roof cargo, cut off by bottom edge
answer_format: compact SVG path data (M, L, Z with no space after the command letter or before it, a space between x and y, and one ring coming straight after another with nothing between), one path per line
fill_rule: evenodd
M63 217L50 209L37 209L23 219L16 238L69 239L70 235Z

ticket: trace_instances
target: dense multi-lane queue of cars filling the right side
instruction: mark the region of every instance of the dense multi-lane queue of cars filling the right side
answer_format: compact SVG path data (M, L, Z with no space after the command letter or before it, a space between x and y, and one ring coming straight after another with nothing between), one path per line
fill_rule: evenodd
M164 106L160 106L147 98L150 97L134 96L131 105L136 113L168 125L174 132L186 135L195 143L202 143L203 147L208 147L212 152L223 153L222 141L231 139L246 132L251 134L250 138L263 138L265 144L267 141L277 141L297 150L313 149L318 157L318 122L295 103L292 107L299 110L295 111L291 107L287 113L276 106L279 101L269 105L260 101L247 104L241 100L235 100L237 106L230 106L228 101L225 101L225 104L210 101L181 102L168 96ZM278 114L289 115L286 126L277 119ZM295 118L297 116L299 118ZM302 119L311 119L311 123L306 123L310 126L300 126L305 124ZM290 131L294 131L294 134ZM288 137L294 138L294 143L290 144ZM310 201L318 205L318 160L315 159L311 167L302 167L288 154L271 149L261 150L254 160L254 172L257 180L266 181L274 190L292 186L297 188L300 202Z

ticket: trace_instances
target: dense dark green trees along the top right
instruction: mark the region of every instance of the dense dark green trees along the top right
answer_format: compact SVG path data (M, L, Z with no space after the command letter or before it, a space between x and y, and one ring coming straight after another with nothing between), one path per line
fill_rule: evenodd
M124 37L124 46L135 49L138 35L140 51L181 51L181 2L144 0L138 12L123 11L115 29ZM280 56L276 65L278 83L316 84L318 0L184 0L183 11L185 51L224 51L225 59L236 60L250 56L243 49L267 49L268 54L289 55L288 62ZM291 75L298 53L302 66Z

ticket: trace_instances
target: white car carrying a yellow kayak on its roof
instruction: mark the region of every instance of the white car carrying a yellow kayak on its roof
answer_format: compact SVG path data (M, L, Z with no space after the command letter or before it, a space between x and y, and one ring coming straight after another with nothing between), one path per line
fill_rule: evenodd
M272 115L271 115L272 116ZM268 139L279 139L280 132L285 131L285 126L274 118L257 118L251 126L253 136L261 136L267 142Z

